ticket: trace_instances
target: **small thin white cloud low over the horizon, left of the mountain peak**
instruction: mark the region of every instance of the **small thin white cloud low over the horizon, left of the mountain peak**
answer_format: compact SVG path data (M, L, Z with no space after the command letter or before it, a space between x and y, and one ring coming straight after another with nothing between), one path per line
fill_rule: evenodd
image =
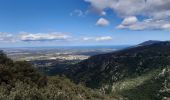
M84 37L84 41L110 41L113 38L111 36L100 36L100 37Z

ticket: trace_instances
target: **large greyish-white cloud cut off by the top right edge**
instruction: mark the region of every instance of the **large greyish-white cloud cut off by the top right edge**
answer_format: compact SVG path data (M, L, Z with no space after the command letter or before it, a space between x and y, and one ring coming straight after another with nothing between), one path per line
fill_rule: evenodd
M136 16L146 15L154 16L155 13L159 14L168 13L170 10L169 0L85 0L89 2L92 7L104 10L106 8L113 9L119 15ZM168 12L167 12L168 11ZM166 14L165 14L166 15ZM169 16L169 14L167 14Z

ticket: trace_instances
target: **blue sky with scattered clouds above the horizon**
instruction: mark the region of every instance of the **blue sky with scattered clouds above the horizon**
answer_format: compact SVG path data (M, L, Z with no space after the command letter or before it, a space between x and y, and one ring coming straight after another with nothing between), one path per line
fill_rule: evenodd
M0 47L170 40L170 0L0 0Z

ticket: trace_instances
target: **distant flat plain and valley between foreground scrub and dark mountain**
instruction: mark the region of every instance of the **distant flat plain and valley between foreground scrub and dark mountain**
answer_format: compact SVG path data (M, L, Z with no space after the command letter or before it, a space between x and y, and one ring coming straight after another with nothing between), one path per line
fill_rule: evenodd
M128 46L27 47L2 48L2 50L14 61L27 61L44 74L57 75L66 70L69 65L125 47Z

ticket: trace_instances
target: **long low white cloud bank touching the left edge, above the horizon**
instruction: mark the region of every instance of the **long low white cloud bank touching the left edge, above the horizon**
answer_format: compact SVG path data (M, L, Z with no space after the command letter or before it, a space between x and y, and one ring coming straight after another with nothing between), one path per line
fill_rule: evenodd
M20 42L20 41L57 41L57 40L68 40L71 36L59 33L27 33L22 32L18 34L10 34L0 32L0 42Z

